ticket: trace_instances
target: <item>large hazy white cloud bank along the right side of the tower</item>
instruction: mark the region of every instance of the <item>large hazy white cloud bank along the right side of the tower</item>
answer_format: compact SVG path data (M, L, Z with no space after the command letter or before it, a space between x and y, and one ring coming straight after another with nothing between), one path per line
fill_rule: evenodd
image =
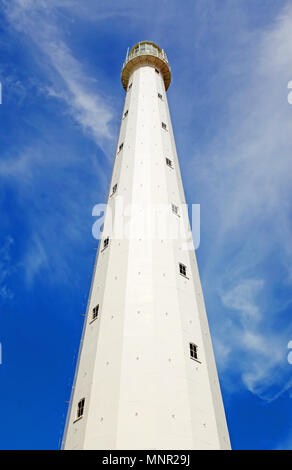
M247 80L229 91L226 126L204 155L194 155L187 182L195 181L205 198L206 232L216 233L202 273L218 295L209 294L218 363L225 377L240 377L241 386L266 401L292 385L286 368L292 323L286 331L277 326L292 298L276 293L291 283L292 272L291 31L292 8L286 5L273 26L252 35L248 62L243 56L231 63L230 74L236 69Z

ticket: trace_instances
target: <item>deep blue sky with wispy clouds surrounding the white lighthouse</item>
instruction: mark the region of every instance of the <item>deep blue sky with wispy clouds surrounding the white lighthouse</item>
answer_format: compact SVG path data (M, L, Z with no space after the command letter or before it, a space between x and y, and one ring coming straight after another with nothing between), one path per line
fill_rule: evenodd
M60 445L128 46L163 47L234 449L292 448L292 2L2 0L2 449Z

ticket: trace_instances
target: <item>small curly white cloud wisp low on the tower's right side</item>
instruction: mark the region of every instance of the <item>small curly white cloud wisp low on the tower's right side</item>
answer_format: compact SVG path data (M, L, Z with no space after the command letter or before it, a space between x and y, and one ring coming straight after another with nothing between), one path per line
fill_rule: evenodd
M240 375L250 392L270 402L289 390L292 381L285 371L285 334L269 327L273 312L261 311L263 288L263 280L245 279L221 293L224 325L215 348L222 369ZM225 344L228 350L221 359Z

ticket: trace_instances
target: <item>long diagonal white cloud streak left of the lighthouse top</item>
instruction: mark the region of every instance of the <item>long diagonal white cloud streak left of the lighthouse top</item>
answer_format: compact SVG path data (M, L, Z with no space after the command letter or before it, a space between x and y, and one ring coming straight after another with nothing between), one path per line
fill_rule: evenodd
M64 0L50 3L42 0L5 1L4 11L10 24L35 45L39 63L46 64L51 85L43 89L48 90L50 96L61 99L83 131L103 148L112 137L109 123L113 110L96 80L86 72L85 65L74 57L58 27L55 9L70 3Z

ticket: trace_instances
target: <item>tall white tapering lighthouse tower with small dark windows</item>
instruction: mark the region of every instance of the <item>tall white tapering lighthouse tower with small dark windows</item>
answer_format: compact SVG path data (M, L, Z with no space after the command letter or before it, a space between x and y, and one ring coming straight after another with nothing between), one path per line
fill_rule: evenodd
M127 54L125 105L64 449L230 448L194 247L186 249L180 233L149 230L157 208L172 229L189 227L170 81L166 54L153 42ZM136 210L117 235L121 204Z

